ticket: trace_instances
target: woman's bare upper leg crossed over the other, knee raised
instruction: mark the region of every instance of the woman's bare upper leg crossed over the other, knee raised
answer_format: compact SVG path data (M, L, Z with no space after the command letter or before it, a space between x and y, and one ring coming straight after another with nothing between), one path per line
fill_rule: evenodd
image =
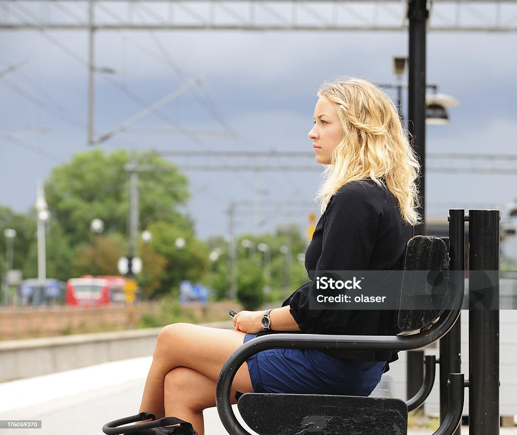
M158 418L165 416L165 376L177 367L190 368L217 382L221 367L234 350L241 346L244 335L233 329L207 328L187 323L165 326L158 335L140 412L152 412ZM253 391L246 364L235 374L233 388L243 393ZM181 397L181 394L183 392L178 392L177 397ZM176 417L181 418L181 415Z

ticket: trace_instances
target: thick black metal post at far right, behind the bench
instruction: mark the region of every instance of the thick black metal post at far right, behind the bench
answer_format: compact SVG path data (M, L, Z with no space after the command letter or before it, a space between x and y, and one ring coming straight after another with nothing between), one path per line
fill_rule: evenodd
M499 211L469 211L468 419L471 435L499 433Z

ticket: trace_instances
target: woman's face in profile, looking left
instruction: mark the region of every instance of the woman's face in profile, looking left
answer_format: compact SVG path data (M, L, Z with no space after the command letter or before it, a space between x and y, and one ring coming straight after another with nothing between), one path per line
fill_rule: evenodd
M343 137L343 128L336 107L325 96L320 97L314 108L314 127L309 131L316 161L330 164L332 151Z

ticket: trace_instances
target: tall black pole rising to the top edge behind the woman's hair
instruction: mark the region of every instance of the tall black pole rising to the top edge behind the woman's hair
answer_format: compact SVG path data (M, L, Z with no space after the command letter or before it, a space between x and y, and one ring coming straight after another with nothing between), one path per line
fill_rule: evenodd
M425 219L425 47L427 27L426 0L410 0L408 10L409 20L409 87L407 117L409 139L420 160L420 198L419 213ZM415 228L415 234L425 235L425 220ZM415 396L423 382L423 352L407 353L406 365L406 397Z

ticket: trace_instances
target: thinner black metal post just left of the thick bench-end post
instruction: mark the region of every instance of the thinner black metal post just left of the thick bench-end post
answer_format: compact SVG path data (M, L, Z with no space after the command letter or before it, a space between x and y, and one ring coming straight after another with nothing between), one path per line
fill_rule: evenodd
M465 292L465 211L449 210L449 269L454 291ZM461 318L440 338L440 423L444 423L449 408L449 374L461 372ZM454 431L460 435L461 426Z

